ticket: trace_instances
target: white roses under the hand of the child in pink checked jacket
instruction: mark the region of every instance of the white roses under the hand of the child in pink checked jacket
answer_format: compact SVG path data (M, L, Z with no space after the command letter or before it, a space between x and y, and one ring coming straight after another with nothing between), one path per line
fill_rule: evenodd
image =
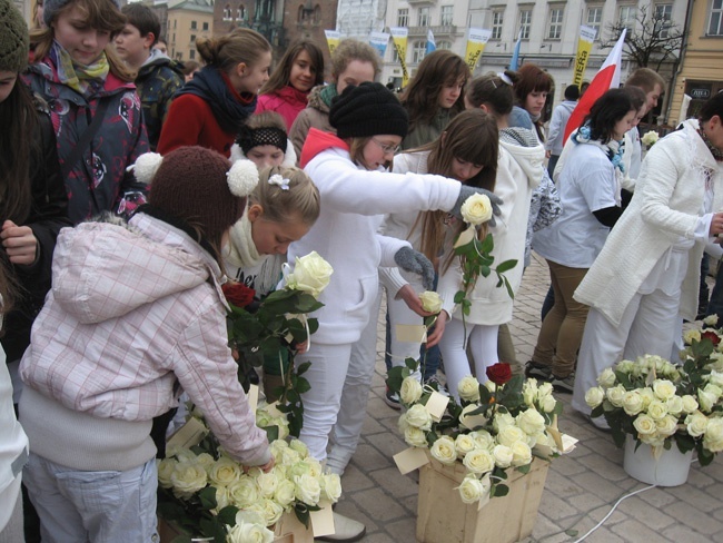
M284 513L294 512L308 527L319 503L336 503L341 495L338 475L323 473L304 443L284 438L286 416L274 406L257 409L257 424L281 436L271 442L276 464L268 473L230 458L202 415L196 409L190 416L205 428L200 442L169 446L158 464L158 514L184 533L214 537L216 543L270 543L273 526Z

